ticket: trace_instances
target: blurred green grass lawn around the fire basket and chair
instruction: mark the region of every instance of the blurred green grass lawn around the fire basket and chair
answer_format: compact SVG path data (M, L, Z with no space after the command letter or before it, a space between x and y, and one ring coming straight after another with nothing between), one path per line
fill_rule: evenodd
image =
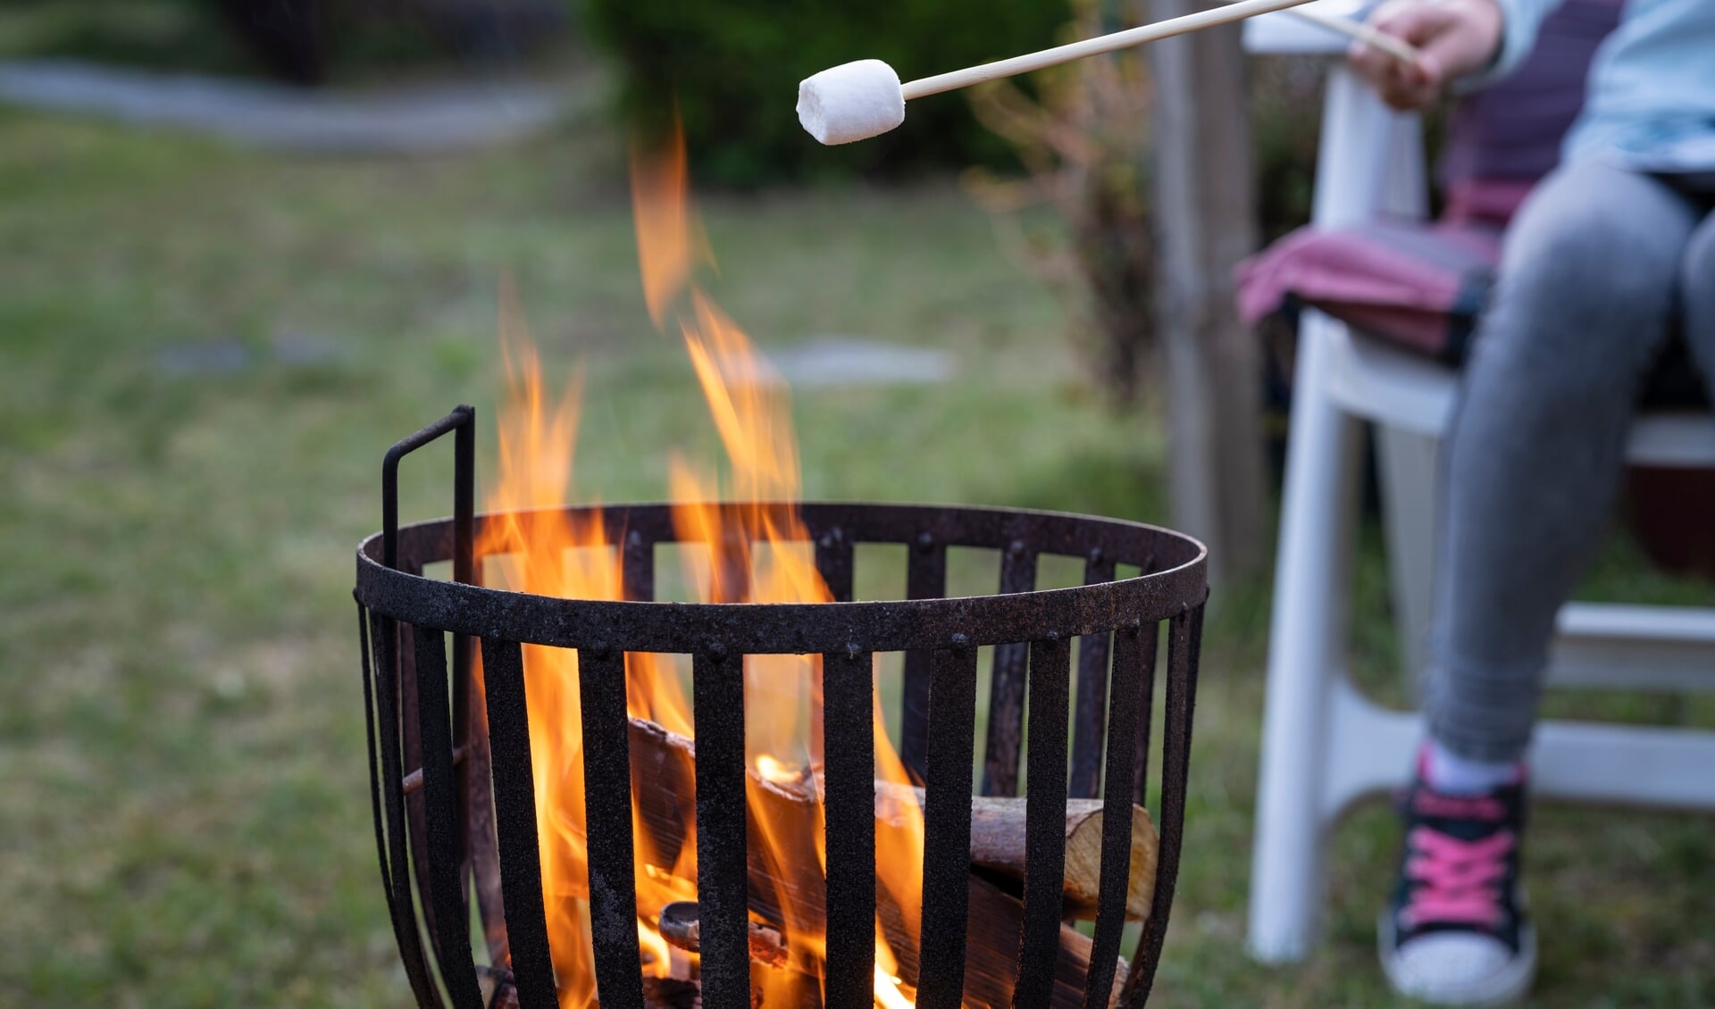
M1163 521L1163 449L1080 380L1062 307L950 187L705 200L717 296L763 346L938 346L940 387L806 391L806 493ZM641 307L617 146L568 128L425 161L293 161L0 111L0 1004L401 1006L365 797L352 548L388 444L494 416L511 272L551 372L585 373L585 499L659 499L707 444ZM480 466L492 459L484 428ZM449 510L444 457L406 517ZM1374 540L1374 536L1372 536ZM1396 689L1362 558L1358 665ZM1708 600L1624 548L1598 591ZM1156 1006L1384 1006L1396 841L1339 833L1327 940L1242 954L1266 598L1209 629ZM1556 701L1708 725L1674 701ZM1542 1006L1715 1002L1706 817L1542 807Z

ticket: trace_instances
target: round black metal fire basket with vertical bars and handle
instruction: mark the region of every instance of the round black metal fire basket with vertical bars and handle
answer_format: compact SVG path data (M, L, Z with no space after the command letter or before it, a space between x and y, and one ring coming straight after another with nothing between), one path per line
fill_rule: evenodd
M400 528L400 459L449 432L453 517ZM1137 522L1031 510L767 505L801 517L835 601L669 603L653 601L655 548L683 541L684 531L676 531L667 505L568 507L564 516L600 522L607 543L617 545L623 600L549 598L475 584L484 529L516 516L475 514L473 449L473 411L465 406L393 445L382 463L382 531L357 552L376 846L420 1006L552 1009L575 980L556 968L564 951L551 951L545 925L539 843L545 814L537 809L530 723L542 714L528 711L527 649L575 649L578 658L592 947L583 961L592 976L580 982L602 1009L755 1004L756 949L779 939L780 908L756 893L748 865L748 851L755 862L746 812L755 781L744 750L749 656L821 656L820 706L811 713L821 755L806 778L818 803L815 822L825 824L818 827L825 875L804 899L821 916L823 944L809 988L827 1009L863 1009L878 999L876 935L888 913L878 901L882 786L873 781L871 706L873 658L883 653L904 654L900 761L923 788L921 939L909 951L914 963L897 964L895 982L916 990L921 1009L1144 1004L1168 927L1185 815L1207 594L1200 543ZM854 546L866 543L906 546L907 600L851 601ZM1000 591L943 598L950 548L998 550ZM1036 591L1038 560L1050 555L1082 562L1084 584ZM424 576L425 565L442 562L451 562L451 581ZM1139 881L1132 803L1146 805L1149 795L1163 634L1166 714L1152 810L1159 845L1152 879ZM1015 800L1024 810L1022 896L1012 893L1020 889L1014 882L986 875L972 851L972 817L988 815L981 803L1012 802L972 798L978 660L988 646L981 795L1017 795L1022 757L1026 788ZM691 668L695 750L679 738L677 766L650 750L648 779L640 778L640 747L667 733L628 718L626 661L635 653L689 656ZM695 851L695 905L662 910L659 922L676 947L696 949L695 975L677 980L643 971L633 882L640 788L677 790L695 807L681 838ZM1067 810L1080 800L1094 810L1098 798L1099 886L1087 908L1094 939L1084 939L1065 925L1072 916L1062 886L1070 877ZM1122 930L1128 894L1140 882L1151 884L1144 887L1151 896L1142 903L1147 911L1132 915L1144 925L1127 963ZM472 903L487 947L480 958ZM1000 951L1003 978L967 970L978 946Z

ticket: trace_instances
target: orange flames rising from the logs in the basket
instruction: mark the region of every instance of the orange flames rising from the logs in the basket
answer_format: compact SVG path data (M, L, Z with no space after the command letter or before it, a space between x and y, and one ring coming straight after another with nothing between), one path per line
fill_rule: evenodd
M659 327L674 325L696 372L703 397L720 435L725 466L717 471L684 457L671 463L674 528L681 541L705 545L684 550L686 581L701 601L787 603L832 601L815 567L809 533L791 504L801 495L797 442L784 382L749 337L696 284L700 264L713 264L703 231L688 200L683 142L662 154L633 159L633 209L643 293ZM566 519L556 507L578 500L573 456L578 435L580 385L557 401L544 392L540 361L530 344L523 313L509 288L502 288L501 346L508 396L499 411L499 480L485 507L492 512L545 509L494 522L478 543L480 555L496 555L489 572L513 589L566 598L623 598L619 552L600 519ZM715 504L725 500L729 504ZM496 577L499 576L499 577ZM789 1004L770 994L818 983L825 935L808 920L791 889L821 886L827 869L820 803L820 733L811 711L820 706L820 656L751 656L744 666L746 759L753 771L748 807L756 855L777 870L780 928L792 970L753 970L765 1004ZM597 1004L587 908L587 845L583 810L583 745L580 731L578 658L571 651L525 649L525 690L530 704L530 745L535 771L542 889L547 901L549 940L563 1009ZM693 733L691 706L677 668L662 656L629 654L626 701L636 718L652 719L679 735ZM909 785L909 776L887 740L880 706L875 713L876 778ZM777 822L768 812L772 791L796 790L815 802L813 831ZM916 952L923 865L923 822L914 803L904 803L906 829L876 834L878 887L897 905L904 942ZM657 930L655 916L672 901L696 899L695 845L686 845L665 865L648 850L648 833L633 805L636 851L638 942L643 970L669 976L674 956ZM755 916L755 911L753 911ZM899 954L876 923L875 1000L882 1009L906 1009L909 988L900 983ZM683 976L683 975L681 975ZM780 995L785 995L780 990Z

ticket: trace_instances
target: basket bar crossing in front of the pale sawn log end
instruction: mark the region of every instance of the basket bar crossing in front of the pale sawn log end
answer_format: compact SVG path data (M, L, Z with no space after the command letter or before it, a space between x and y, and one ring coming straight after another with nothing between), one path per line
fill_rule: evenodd
M1152 624L1149 630L1154 632ZM1142 682L1144 629L1137 624L1113 636L1113 707L1108 713L1108 767L1103 773L1101 790L1101 882L1096 898L1096 940L1084 978L1084 1009L1108 1009L1125 932L1125 898L1132 870L1137 709L1149 702Z

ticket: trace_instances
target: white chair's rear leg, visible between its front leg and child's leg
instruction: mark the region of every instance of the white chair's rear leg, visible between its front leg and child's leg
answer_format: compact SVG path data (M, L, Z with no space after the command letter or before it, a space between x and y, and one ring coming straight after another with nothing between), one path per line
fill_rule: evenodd
M1387 534L1387 577L1393 581L1399 654L1408 689L1418 696L1429 668L1429 618L1435 570L1435 451L1432 435L1375 427Z

